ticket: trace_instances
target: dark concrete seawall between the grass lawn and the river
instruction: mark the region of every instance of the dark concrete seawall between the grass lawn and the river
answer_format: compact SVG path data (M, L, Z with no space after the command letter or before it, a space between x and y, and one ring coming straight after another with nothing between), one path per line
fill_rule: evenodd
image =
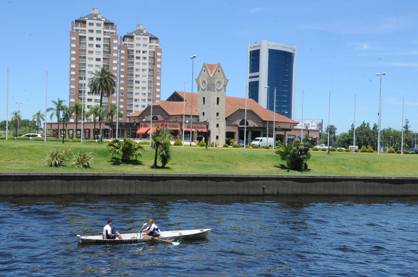
M418 196L417 177L151 173L0 173L2 197Z

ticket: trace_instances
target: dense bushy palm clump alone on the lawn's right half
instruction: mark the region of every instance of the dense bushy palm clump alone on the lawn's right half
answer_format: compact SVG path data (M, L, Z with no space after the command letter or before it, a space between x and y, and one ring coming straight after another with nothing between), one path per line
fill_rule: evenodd
M280 143L280 149L275 152L280 155L282 161L286 162L288 169L302 170L307 169L306 161L311 158L311 153L309 153L310 145L311 138L306 135L302 143L299 139L293 140L288 145Z

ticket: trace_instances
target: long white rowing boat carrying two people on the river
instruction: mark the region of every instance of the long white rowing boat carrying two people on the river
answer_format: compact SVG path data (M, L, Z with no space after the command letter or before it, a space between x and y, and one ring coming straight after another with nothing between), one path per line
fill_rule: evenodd
M162 231L161 236L158 239L201 239L206 237L212 229L196 229L196 230L183 230L183 231ZM106 239L106 235L102 233L96 234L81 234L77 235L79 243L83 242L97 242L97 243L138 243L149 242L153 238L142 238L145 232L121 234L122 239Z

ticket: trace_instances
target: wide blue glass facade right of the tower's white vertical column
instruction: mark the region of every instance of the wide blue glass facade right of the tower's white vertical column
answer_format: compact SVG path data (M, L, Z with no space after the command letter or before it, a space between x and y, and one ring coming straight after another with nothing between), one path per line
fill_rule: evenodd
M293 61L295 54L282 50L268 50L268 109L281 115L291 114L293 91ZM276 103L274 103L276 88ZM274 105L276 108L274 108Z

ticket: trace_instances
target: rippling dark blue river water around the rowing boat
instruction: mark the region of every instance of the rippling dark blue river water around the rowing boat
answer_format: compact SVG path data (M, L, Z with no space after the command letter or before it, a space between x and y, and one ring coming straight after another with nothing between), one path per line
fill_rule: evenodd
M418 199L0 198L0 276L418 276ZM206 239L79 244L107 219Z

